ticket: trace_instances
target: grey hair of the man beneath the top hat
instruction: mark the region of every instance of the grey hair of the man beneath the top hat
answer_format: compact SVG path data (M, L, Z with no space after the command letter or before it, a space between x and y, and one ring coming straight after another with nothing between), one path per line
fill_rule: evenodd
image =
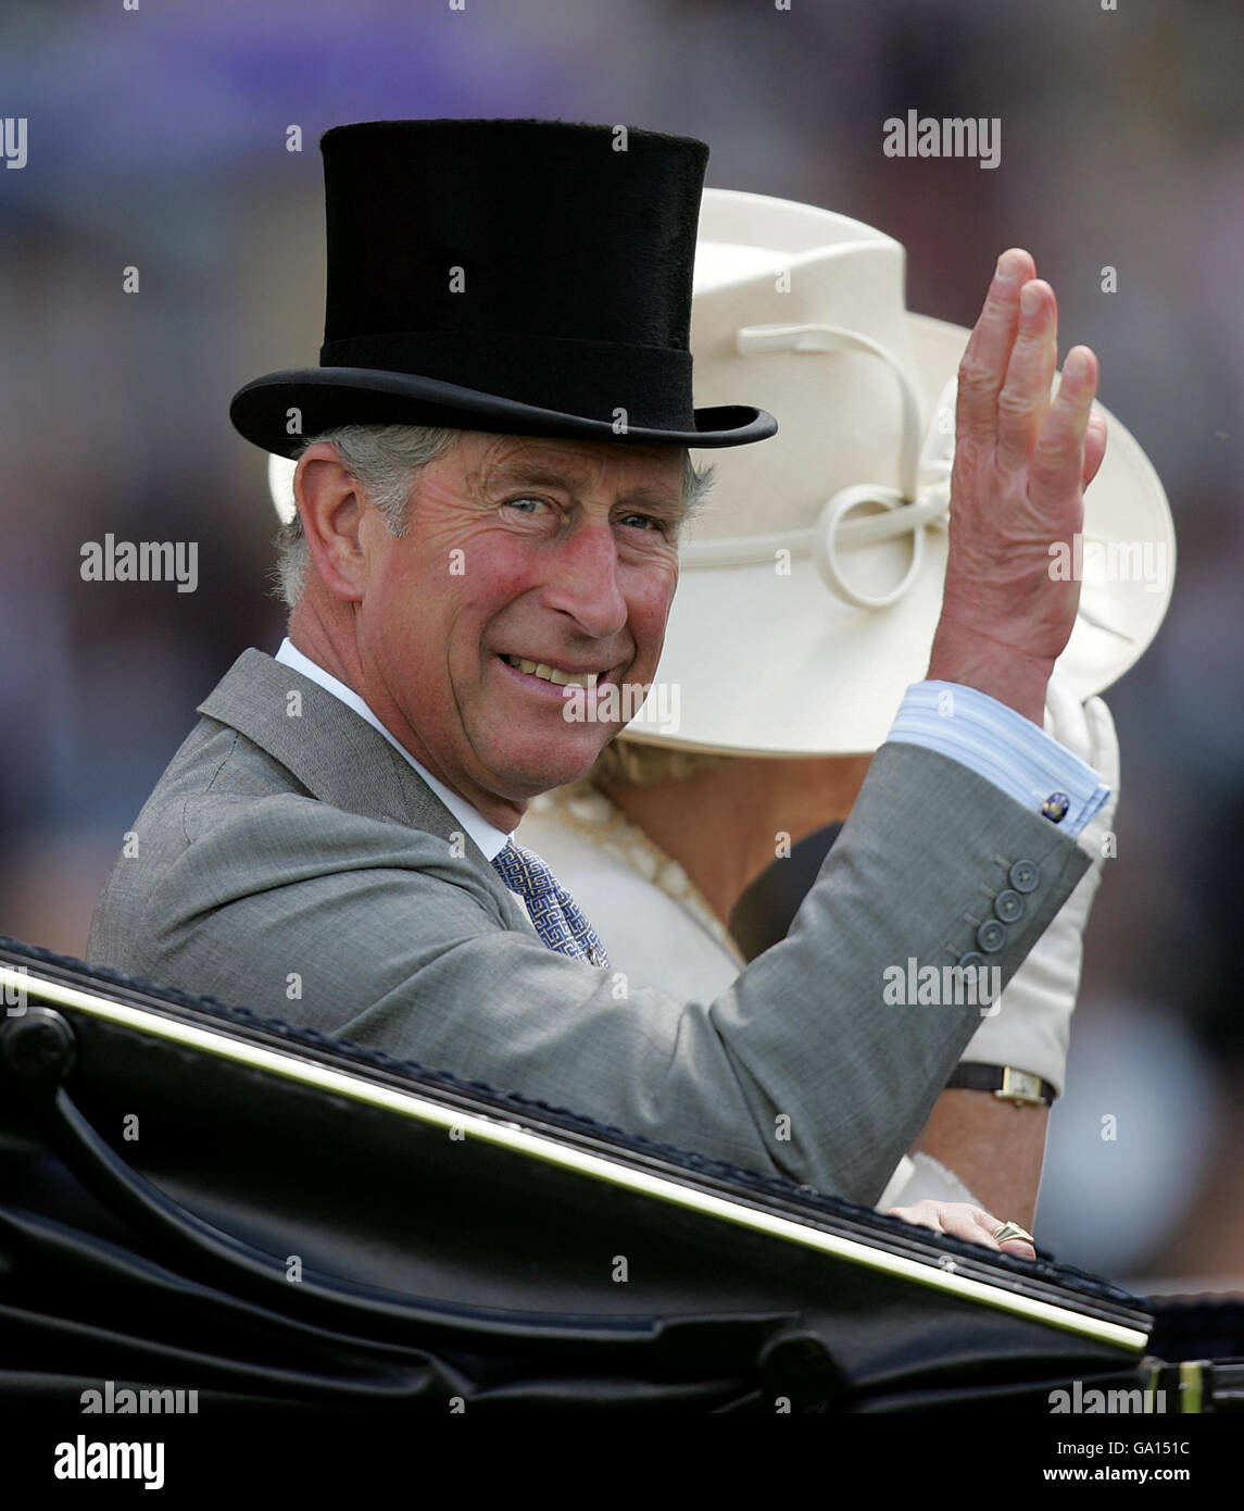
M341 465L359 484L368 503L379 509L390 532L400 536L409 523L411 493L420 471L438 461L453 446L460 431L427 425L340 425L309 437L297 455L320 441L337 447ZM691 453L682 453L684 523L704 503L713 487L713 468L696 467ZM311 552L302 533L302 517L294 514L273 541L276 592L287 609L302 597Z

